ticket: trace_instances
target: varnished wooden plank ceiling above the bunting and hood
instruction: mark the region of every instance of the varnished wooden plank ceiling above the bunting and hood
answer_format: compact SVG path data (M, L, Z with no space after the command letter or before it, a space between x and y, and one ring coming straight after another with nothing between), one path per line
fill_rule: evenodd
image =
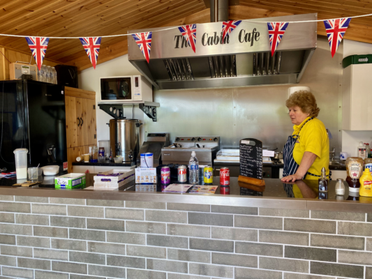
M129 29L209 22L209 0L0 0L0 33L27 36L107 36ZM318 13L319 19L372 13L372 0L235 0L230 20ZM318 33L325 35L322 22ZM345 38L372 43L372 17L352 19ZM0 45L29 54L24 38L0 36ZM103 38L98 63L127 53L126 37ZM78 39L51 39L45 59L91 63Z

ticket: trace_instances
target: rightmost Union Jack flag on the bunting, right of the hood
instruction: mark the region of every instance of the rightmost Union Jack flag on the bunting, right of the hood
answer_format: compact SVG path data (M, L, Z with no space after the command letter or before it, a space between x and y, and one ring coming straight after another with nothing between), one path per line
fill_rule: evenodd
M325 31L327 31L329 47L331 47L332 57L336 53L338 45L341 43L346 29L348 29L351 17L339 18L337 20L324 20Z

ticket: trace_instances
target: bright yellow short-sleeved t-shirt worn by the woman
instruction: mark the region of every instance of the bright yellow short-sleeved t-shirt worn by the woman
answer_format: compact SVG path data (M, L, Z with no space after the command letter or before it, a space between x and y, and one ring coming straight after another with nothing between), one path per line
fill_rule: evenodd
M301 164L302 157L306 151L314 153L316 159L308 169L311 174L321 174L322 167L325 167L327 175L329 174L329 138L325 125L319 119L306 118L304 122L293 126L293 134L299 137L296 140L295 149L293 149L293 158L297 164ZM304 126L304 123L306 125ZM304 128L302 128L304 126ZM302 128L301 132L299 130ZM307 175L305 179L319 179L317 176Z

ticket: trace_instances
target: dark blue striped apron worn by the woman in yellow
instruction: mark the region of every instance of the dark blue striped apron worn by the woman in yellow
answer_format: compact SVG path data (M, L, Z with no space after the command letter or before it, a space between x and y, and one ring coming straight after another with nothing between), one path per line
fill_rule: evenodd
M311 119L308 119L308 121L313 120L313 117ZM301 129L299 129L299 132L301 132L302 128L308 123L306 121L304 125L302 125ZM283 177L295 174L297 172L297 169L299 168L299 164L296 163L295 159L293 158L293 149L295 149L295 144L297 139L299 138L299 133L297 135L290 135L288 137L288 141L285 143L284 149L283 149L283 160L284 160L284 167L283 167ZM305 176L302 179L306 178L306 175L311 176L317 176L320 177L320 175L311 174L310 172L306 172Z

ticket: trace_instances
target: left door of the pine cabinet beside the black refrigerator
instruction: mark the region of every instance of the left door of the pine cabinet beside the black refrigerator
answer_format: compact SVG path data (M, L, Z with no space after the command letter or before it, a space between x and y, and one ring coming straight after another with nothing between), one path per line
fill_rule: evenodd
M66 102L66 134L67 134L67 148L79 146L77 137L77 114L76 114L76 98L68 97L65 98Z

